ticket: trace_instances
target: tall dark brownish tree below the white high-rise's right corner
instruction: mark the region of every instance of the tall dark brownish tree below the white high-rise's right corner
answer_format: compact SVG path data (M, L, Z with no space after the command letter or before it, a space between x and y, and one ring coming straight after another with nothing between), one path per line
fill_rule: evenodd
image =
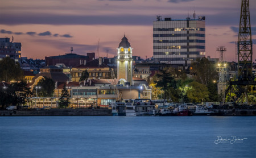
M208 85L210 82L218 79L216 65L205 57L197 58L191 64L191 73L197 82L204 85Z

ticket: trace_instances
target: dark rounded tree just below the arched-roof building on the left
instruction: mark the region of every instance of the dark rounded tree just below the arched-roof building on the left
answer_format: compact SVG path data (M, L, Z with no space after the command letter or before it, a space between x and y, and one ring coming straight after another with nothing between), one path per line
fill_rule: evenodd
M38 89L38 97L53 97L55 83L51 78L47 78L44 76L41 80L39 80L38 84L36 84ZM34 86L33 92L36 94L36 86Z

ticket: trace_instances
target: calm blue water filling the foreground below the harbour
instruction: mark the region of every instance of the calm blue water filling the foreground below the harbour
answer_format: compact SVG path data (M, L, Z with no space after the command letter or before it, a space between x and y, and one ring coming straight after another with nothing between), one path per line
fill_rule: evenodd
M256 157L256 117L0 117L0 157ZM222 138L243 142L215 144Z

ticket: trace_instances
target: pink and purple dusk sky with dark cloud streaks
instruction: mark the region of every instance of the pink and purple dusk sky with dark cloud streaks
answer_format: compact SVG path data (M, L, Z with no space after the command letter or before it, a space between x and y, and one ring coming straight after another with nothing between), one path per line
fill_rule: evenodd
M134 56L153 56L153 21L205 16L206 56L236 60L241 0L0 0L0 38L14 36L22 56L44 59L70 53L97 52L113 57L123 35ZM253 47L256 49L256 1L250 0ZM254 51L255 52L255 51ZM253 61L256 53L253 54Z

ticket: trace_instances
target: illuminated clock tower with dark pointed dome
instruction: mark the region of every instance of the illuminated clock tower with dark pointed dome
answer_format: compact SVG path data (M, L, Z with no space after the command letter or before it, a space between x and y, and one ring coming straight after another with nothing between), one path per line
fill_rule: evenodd
M123 36L119 47L117 48L117 79L125 79L133 85L133 58L131 44Z

